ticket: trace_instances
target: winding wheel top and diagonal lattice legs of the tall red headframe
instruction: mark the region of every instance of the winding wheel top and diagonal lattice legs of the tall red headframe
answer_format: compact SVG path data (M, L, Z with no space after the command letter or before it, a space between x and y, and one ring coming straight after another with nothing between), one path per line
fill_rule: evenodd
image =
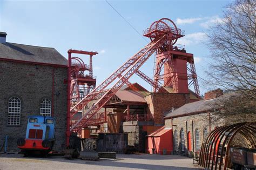
M165 23L164 21L167 22ZM144 46L134 56L128 59L122 66L120 66L116 71L114 71L109 78L104 80L103 83L101 83L95 89L93 89L91 93L87 94L87 96L80 100L75 106L73 106L72 108L70 108L70 105L68 106L69 119L70 115L74 115L78 111L82 110L82 108L86 106L86 104L88 104L90 101L97 99L97 102L91 108L89 108L89 110L87 110L86 113L83 114L82 118L78 120L75 125L70 127L68 124L66 129L67 144L70 132L79 133L83 127L90 124L90 120L92 120L93 115L95 115L100 110L100 108L102 108L107 103L107 101L109 101L109 99L124 84L131 86L129 78L134 73L137 74L139 77L143 78L144 80L146 80L147 83L151 84L154 87L154 89L160 89L160 84L156 83L154 80L147 77L143 72L139 71L139 67L142 66L154 52L166 46L166 44L176 43L177 39L183 36L181 30L177 29L176 26L174 29L174 23L170 21L170 19L160 19L159 21L154 22L151 25L150 29L144 31L144 36L149 37L151 39L151 42L149 44ZM69 53L69 57L70 54L71 53ZM106 87L113 83L114 80L117 80L116 83L114 83L113 86L110 87L110 89L106 89ZM69 93L70 91L68 91L68 94Z

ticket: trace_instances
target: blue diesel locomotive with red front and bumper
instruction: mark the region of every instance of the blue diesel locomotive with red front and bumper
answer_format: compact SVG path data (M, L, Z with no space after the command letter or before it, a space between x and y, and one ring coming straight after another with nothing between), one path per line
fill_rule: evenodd
M30 116L26 127L26 138L17 140L24 156L30 154L46 155L52 151L55 142L55 119L42 115Z

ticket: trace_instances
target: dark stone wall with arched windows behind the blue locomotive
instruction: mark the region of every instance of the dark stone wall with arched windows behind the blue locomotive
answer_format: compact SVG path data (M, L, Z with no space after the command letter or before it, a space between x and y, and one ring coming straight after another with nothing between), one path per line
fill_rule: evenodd
M52 75L54 94L52 101ZM41 100L47 98L53 104L56 118L56 151L65 147L67 91L64 80L67 68L45 65L0 61L0 146L8 135L8 151L19 151L18 138L25 138L28 116L39 115ZM21 99L21 124L10 126L8 122L8 101L10 97Z

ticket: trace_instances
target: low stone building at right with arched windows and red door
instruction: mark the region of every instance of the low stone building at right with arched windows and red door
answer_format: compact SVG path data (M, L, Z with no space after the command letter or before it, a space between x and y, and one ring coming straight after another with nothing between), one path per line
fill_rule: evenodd
M216 102L224 101L230 97L229 93L223 93L217 89L205 93L204 100L187 103L174 111L170 111L165 116L165 127L172 128L173 154L187 155L188 151L199 152L203 140L207 134L215 127L226 124L233 124L242 121L252 121L255 115L213 119L216 114L214 108Z

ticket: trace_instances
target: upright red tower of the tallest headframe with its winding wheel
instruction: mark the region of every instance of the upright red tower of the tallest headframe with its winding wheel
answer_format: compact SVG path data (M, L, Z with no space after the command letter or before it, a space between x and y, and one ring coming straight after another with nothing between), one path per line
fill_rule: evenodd
M178 29L171 19L162 18L145 30L144 36L154 40L166 30L172 32L172 35L157 50L153 85L157 86L160 81L163 81L164 86L172 87L174 93L188 93L188 86L193 84L194 91L197 97L200 98L193 55L186 53L185 47L173 46L178 38L185 36L185 32ZM190 67L187 67L187 63ZM162 70L164 70L164 74L161 74ZM190 73L187 73L187 70ZM188 79L191 79L190 83L187 82ZM159 89L154 87L153 90L157 92Z

